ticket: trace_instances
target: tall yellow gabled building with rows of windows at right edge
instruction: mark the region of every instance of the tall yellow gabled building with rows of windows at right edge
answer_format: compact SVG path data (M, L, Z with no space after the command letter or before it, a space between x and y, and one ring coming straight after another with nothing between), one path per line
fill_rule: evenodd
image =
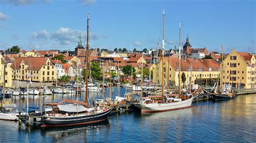
M255 88L255 56L235 49L223 60L221 83L234 88Z

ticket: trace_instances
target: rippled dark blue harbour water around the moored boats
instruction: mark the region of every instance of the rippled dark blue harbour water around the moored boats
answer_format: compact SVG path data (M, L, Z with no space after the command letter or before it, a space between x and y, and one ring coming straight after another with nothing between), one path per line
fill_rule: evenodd
M117 95L117 90L113 93ZM120 89L124 96L125 89ZM106 91L108 93L108 91ZM108 96L108 95L107 95ZM45 96L43 103L71 96ZM76 96L72 96L76 98ZM80 96L80 98L83 98ZM90 95L90 98L101 98ZM18 108L23 102L16 98ZM26 103L26 101L25 101ZM29 97L29 106L39 106ZM26 106L26 105L25 105ZM171 141L256 141L256 95L240 95L229 101L192 103L189 109L161 112L112 113L97 125L41 128L0 120L0 142L171 142Z

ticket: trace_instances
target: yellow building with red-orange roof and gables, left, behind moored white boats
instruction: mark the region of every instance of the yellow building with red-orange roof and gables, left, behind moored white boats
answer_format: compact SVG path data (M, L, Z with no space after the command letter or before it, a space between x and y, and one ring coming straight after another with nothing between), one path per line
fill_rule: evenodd
M53 82L57 78L52 62L45 57L17 57L11 68L12 80L26 81L26 75L34 82Z

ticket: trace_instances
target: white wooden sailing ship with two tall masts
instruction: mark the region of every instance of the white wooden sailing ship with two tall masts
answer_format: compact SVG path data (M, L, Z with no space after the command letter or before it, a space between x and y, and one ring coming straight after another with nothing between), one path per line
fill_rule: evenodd
M141 112L164 112L164 111L171 111L171 110L178 110L178 109L185 109L190 108L193 96L192 95L181 95L180 90L180 40L179 40L179 94L178 95L167 95L164 94L164 16L165 13L163 12L163 41L162 41L162 54L161 54L161 96L157 93L152 96L144 97L140 100L139 103L135 103L138 109ZM180 39L180 26L179 26L179 39ZM180 98L181 97L181 98Z

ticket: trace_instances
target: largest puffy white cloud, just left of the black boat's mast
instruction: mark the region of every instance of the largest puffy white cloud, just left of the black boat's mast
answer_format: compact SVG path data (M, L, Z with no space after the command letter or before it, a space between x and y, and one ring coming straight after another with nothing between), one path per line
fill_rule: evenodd
M70 45L72 42L77 42L78 37L85 37L85 31L73 30L71 28L60 27L57 31L51 34L51 39L54 39L60 45Z

